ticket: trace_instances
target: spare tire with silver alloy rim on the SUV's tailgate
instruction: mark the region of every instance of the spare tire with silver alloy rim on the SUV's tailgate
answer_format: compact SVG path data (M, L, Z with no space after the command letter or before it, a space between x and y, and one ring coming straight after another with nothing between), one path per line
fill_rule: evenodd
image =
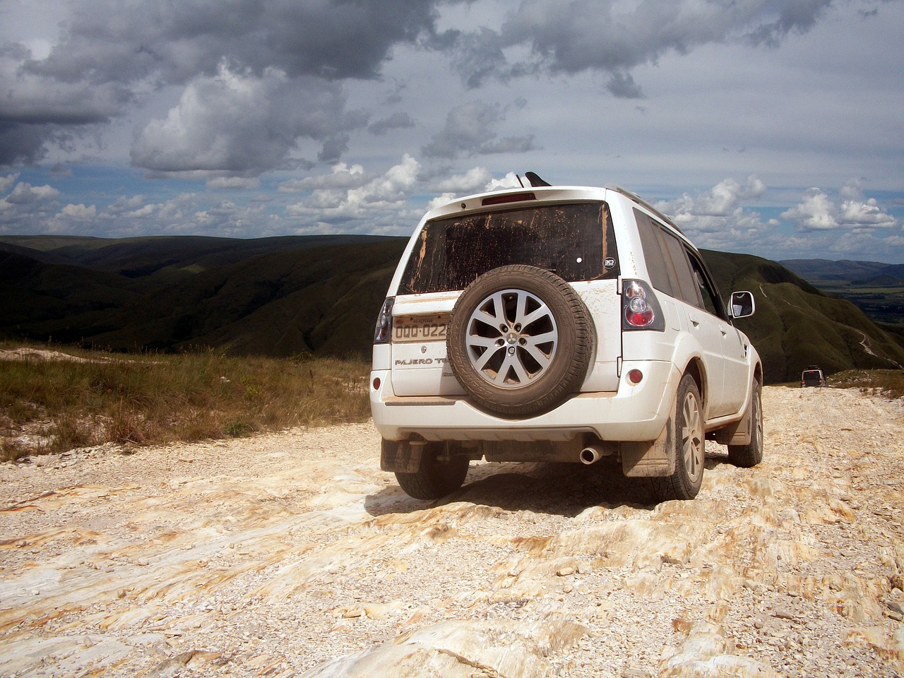
M578 391L590 362L589 315L551 271L494 268L468 285L449 318L447 356L483 410L537 415Z

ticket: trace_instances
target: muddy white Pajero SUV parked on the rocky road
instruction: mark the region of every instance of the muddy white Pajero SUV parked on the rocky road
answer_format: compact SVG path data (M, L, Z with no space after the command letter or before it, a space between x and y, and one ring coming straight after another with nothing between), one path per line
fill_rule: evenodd
M419 499L469 461L621 462L661 499L699 492L704 439L763 453L762 365L682 231L633 193L551 186L459 198L411 236L377 319L381 468Z

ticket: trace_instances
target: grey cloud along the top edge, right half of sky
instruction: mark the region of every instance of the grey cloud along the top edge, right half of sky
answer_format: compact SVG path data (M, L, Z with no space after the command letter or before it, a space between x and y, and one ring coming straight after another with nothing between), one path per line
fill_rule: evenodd
M805 33L833 0L645 0L617 4L599 0L522 0L498 32L482 28L455 35L454 66L469 86L489 78L550 71L609 74L607 89L636 98L641 89L630 70L655 63L666 52L687 53L713 42L775 45L787 33ZM530 57L506 59L526 48Z

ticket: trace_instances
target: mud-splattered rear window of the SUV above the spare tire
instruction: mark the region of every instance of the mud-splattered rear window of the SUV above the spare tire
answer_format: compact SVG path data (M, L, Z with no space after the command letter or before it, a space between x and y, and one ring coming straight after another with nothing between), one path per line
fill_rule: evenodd
M607 203L546 204L428 221L399 293L464 289L486 271L510 264L545 268L568 282L617 278Z

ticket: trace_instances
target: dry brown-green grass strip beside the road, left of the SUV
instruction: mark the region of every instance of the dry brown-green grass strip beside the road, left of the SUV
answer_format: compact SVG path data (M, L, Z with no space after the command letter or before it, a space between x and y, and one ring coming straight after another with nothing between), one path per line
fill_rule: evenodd
M0 353L12 348L0 344ZM241 437L370 415L370 366L360 359L29 348L18 360L0 360L0 460L108 442Z

